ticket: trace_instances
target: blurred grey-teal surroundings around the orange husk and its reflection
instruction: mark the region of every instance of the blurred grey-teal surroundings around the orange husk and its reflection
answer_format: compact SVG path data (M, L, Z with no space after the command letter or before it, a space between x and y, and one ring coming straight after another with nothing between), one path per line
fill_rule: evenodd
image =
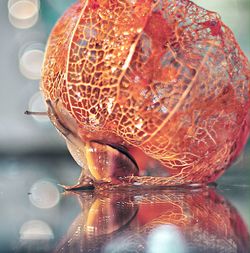
M44 49L56 20L73 2L0 0L0 252L22 248L30 238L46 240L49 248L80 210L57 186L72 184L80 172L63 139L47 117L24 115L27 109L46 111L39 92ZM194 2L221 15L249 58L250 0ZM218 187L248 229L249 146Z

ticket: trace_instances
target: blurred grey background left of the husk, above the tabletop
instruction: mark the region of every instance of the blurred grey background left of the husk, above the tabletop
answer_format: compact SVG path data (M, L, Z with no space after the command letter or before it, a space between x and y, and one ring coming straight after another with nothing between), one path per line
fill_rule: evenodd
M0 153L60 152L62 139L46 117L39 93L43 53L50 30L73 0L0 1Z

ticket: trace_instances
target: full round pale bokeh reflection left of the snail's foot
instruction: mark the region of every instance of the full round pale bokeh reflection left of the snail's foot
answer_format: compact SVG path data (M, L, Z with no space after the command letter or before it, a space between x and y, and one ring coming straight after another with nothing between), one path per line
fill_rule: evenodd
M39 180L30 189L30 201L38 208L52 208L60 200L60 193L57 187L47 180Z

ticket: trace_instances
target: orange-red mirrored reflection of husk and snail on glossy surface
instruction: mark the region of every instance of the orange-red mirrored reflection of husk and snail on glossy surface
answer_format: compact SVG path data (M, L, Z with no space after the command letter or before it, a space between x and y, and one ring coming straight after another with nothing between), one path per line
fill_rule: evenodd
M237 210L213 189L79 193L78 198L82 212L56 252L99 252L116 239L132 252L145 252L147 236L161 225L177 227L192 252L250 249Z

